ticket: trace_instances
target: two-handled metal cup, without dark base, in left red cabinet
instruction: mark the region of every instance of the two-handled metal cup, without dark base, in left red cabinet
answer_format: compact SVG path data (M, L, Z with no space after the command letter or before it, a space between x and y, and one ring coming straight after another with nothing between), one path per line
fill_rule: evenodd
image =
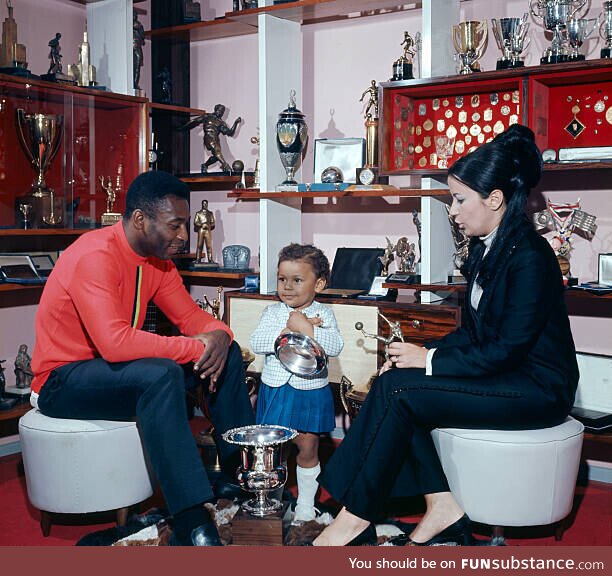
M17 137L36 172L30 194L35 198L49 196L51 188L45 182L45 172L62 143L64 117L60 114L26 114L17 110Z

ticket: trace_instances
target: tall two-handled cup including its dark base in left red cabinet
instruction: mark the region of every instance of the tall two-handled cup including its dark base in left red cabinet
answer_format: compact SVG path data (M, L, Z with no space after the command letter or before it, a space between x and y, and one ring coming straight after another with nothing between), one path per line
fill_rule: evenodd
M60 114L26 114L17 109L17 139L36 172L27 202L32 206L35 225L42 222L56 226L63 219L62 199L56 198L45 182L45 173L55 158L64 133L64 117Z

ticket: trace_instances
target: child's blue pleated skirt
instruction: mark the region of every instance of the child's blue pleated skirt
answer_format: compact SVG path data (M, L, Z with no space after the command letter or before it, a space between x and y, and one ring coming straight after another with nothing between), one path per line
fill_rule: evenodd
M331 388L298 390L289 384L273 388L262 382L255 418L257 424L287 426L298 432L331 432L336 427Z

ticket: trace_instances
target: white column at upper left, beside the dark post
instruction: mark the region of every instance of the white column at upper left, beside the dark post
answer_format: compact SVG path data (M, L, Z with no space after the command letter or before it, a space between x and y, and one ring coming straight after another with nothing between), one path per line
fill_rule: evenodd
M98 84L112 92L134 94L132 0L87 4L91 63Z

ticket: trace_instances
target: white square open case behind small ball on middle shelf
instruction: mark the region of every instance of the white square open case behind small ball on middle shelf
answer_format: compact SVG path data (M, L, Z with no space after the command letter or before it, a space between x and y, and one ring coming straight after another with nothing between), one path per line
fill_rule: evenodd
M334 166L342 171L344 182L354 184L364 161L364 138L320 138L315 140L314 181L321 183L323 170Z

